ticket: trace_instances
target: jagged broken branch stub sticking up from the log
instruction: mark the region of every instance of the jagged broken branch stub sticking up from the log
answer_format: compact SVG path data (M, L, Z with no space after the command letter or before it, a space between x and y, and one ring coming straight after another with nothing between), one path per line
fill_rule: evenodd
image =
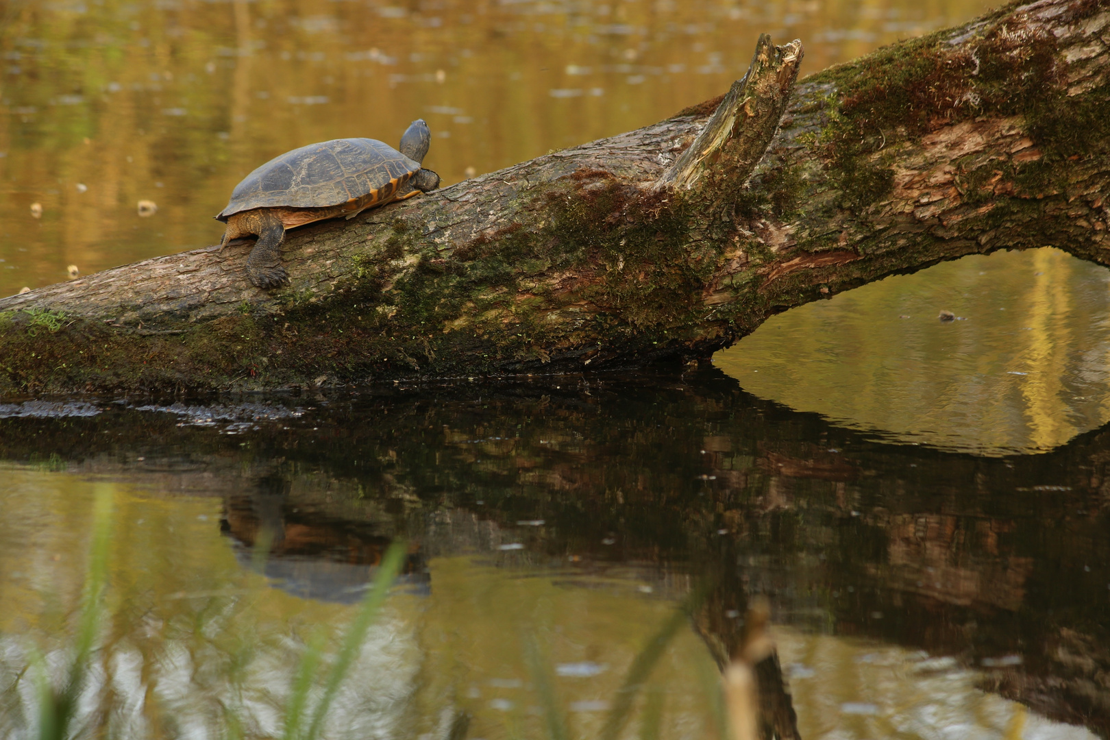
M776 47L759 34L747 73L733 83L716 112L656 187L702 190L720 180L743 184L770 145L798 79L801 41Z

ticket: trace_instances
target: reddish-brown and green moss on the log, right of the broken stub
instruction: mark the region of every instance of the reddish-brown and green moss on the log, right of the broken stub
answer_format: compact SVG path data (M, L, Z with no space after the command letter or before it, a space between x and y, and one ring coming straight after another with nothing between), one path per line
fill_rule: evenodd
M1097 3L1096 3L1097 4ZM1106 87L1078 98L1067 81L1054 36L1029 26L1012 7L987 19L967 43L949 43L951 31L880 49L811 78L834 98L825 108L826 124L806 143L821 156L842 189L842 207L866 209L889 194L892 173L876 152L960 120L1020 115L1042 153L1045 164L1016 169L1017 183L1031 194L1063 186L1058 168L1064 159L1104 154L1110 141L1110 97ZM1078 22L1096 12L1090 2L1067 9ZM965 163L958 174L971 202L985 199L985 185L997 163L977 173Z

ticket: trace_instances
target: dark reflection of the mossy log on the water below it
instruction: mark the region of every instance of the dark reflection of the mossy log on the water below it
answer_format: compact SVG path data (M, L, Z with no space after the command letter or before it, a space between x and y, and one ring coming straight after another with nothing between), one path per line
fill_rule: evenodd
M693 560L719 575L696 618L718 659L767 594L777 621L961 656L1000 693L1110 733L1110 429L981 458L882 445L714 369L475 386L0 419L0 458L222 494L245 541L280 516L315 554L329 528L343 549L403 535L428 558L518 541L537 564L636 564L674 598ZM210 418L238 433L179 426Z

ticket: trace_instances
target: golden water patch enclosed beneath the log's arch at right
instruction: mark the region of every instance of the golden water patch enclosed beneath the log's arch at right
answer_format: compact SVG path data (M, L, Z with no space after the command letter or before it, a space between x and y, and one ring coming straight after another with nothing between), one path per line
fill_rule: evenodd
M989 455L1110 420L1108 359L1110 272L1053 249L888 277L775 316L715 357L791 408Z

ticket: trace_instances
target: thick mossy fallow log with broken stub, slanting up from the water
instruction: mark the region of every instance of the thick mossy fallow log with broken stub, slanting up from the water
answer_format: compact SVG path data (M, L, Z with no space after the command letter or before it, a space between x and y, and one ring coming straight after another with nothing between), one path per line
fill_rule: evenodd
M1110 264L1110 6L1042 0L250 244L0 300L0 394L278 388L700 358L768 316L998 249ZM712 115L710 115L712 114Z

